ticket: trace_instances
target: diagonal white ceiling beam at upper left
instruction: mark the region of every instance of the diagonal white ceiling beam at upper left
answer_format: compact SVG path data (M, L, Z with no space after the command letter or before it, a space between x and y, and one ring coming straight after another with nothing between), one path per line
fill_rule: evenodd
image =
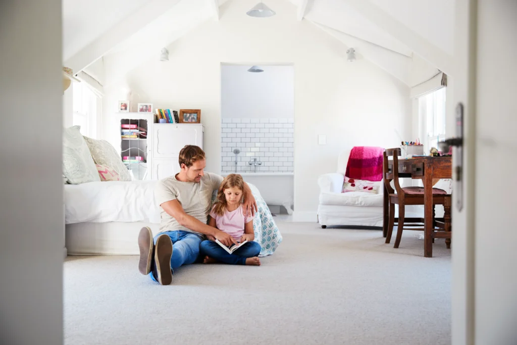
M166 10L176 5L179 0L153 0L129 14L124 20L109 29L108 32L89 43L78 53L65 61L65 66L78 73L108 53L121 41L137 33L144 26L153 22Z

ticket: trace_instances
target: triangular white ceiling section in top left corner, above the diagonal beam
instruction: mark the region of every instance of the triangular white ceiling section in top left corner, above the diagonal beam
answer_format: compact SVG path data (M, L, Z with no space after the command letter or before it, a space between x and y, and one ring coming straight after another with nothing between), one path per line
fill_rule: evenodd
M152 0L63 0L63 60Z

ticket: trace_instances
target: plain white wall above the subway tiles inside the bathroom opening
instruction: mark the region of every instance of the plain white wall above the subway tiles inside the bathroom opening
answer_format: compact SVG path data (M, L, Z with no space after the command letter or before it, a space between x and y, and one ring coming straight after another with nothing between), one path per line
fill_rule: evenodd
M221 117L294 117L293 66L221 66Z

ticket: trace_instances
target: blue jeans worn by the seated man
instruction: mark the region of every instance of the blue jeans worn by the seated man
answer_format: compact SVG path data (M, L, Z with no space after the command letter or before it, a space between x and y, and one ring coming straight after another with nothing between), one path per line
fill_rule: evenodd
M160 232L154 238L154 243L160 235L168 235L172 241L172 257L171 257L171 270L174 273L174 268L178 268L181 265L187 265L196 262L199 256L199 245L203 241L203 238L192 232L184 230L176 231L165 231ZM149 273L149 277L156 281L153 277L153 272Z

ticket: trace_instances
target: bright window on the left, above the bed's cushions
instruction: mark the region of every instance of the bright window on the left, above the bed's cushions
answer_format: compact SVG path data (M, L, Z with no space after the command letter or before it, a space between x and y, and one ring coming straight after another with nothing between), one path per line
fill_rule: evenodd
M72 91L72 125L81 126L81 134L83 136L96 139L97 126L100 125L98 123L98 117L100 116L98 109L98 105L100 105L99 98L83 82L74 83Z

